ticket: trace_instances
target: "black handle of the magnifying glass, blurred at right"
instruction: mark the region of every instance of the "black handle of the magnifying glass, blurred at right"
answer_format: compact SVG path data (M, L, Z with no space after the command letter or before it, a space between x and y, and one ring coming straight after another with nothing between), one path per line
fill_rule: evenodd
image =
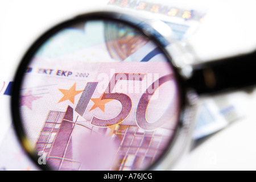
M216 93L256 85L256 51L192 66L185 86L198 94Z

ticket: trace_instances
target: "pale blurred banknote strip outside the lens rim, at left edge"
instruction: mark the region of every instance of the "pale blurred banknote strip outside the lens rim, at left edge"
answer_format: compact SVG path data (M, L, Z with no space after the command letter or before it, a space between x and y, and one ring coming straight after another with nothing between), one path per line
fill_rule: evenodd
M37 170L35 164L31 162L23 148L20 146L13 128L10 99L11 86L13 82L10 78L1 81L0 100L1 100L1 127L0 127L0 170Z

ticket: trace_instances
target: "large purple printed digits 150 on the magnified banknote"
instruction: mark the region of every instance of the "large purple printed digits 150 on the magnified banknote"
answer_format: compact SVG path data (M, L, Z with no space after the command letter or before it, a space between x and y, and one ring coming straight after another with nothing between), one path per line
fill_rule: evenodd
M139 77L129 77L129 74L133 74L133 73L122 73L125 75L125 77L122 77L122 79L121 79L121 78L116 77L118 74L120 74L120 73L115 73L115 75L112 77L112 79L109 82L108 88L105 90L101 99L102 100L106 100L106 99L118 100L122 104L122 110L117 115L117 117L112 118L112 119L100 119L100 118L97 118L94 116L91 121L91 124L94 126L108 127L108 126L112 126L112 125L117 125L118 123L121 123L123 120L125 120L125 118L127 118L128 115L130 114L131 107L132 107L131 98L124 93L112 93L112 91L114 89L115 84L117 84L118 80L122 80L123 78L126 78L126 80L134 80L134 78L135 78L135 80L137 80L137 81L142 81L142 80L139 80L139 78L143 79L143 77L145 75L140 74ZM172 75L166 75L166 76L159 78L159 80L156 80L150 86L151 91L153 91L153 92L148 92L148 89L149 89L148 88L146 90L146 92L143 93L141 99L139 100L137 110L135 113L135 120L137 122L137 125L139 127L141 127L143 130L155 130L158 127L162 126L166 122L166 115L163 115L161 118L158 119L158 121L156 121L154 123L148 122L146 119L146 110L147 110L147 106L150 102L150 98L155 93L156 89L158 89L159 86L164 84L164 82L171 81L172 79L173 79ZM156 82L158 82L158 84L155 84ZM114 83L114 84L112 84L112 83ZM92 88L91 86L92 85L94 85L94 86L93 86L93 90L90 90L90 94L89 93L86 94L87 96L89 96L89 97L92 96L94 90L96 89L97 84L98 84L97 82L88 82L86 87L88 86L88 88ZM155 87L155 85L158 85L158 86ZM79 113L79 114L83 115L84 110L87 107L88 102L90 100L89 97L85 98L86 101L82 101L82 102L86 103L86 105L83 105L84 109L82 109L83 110L82 113Z

